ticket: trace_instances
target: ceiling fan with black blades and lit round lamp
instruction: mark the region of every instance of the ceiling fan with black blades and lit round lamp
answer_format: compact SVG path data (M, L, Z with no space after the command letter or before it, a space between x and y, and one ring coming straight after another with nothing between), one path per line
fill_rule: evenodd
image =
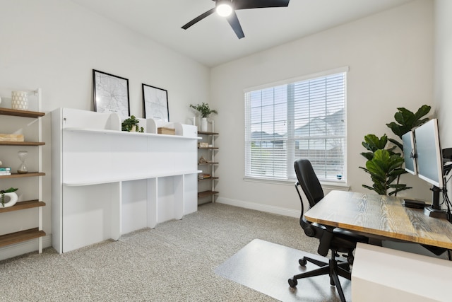
M249 9L249 8L266 8L266 7L287 7L290 0L212 0L215 2L215 7L206 11L206 13L197 16L186 25L182 26L184 30L189 28L191 25L198 23L207 16L210 16L215 11L218 15L225 17L227 22L231 25L234 33L239 39L244 37L242 26L240 25L239 18L235 11L239 9Z

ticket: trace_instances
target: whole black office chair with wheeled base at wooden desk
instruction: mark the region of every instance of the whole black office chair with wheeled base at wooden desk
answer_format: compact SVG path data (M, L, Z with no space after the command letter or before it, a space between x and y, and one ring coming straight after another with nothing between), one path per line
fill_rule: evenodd
M356 243L367 243L369 239L340 228L322 226L318 223L309 223L306 219L304 219L304 205L298 186L300 185L302 187L302 190L308 199L310 208L314 207L324 195L319 179L312 168L311 162L307 159L298 159L295 161L294 165L298 180L295 182L295 188L297 189L300 202L302 202L302 214L299 218L299 224L302 226L304 233L307 236L319 238L320 245L317 252L325 257L328 254L328 250L331 250L331 258L329 262L326 263L310 257L303 257L298 261L299 265L302 267L306 266L309 261L315 265L318 265L320 268L295 275L289 279L289 285L290 287L295 288L298 284L297 279L329 274L330 284L335 286L338 290L340 301L345 301L344 292L342 286L340 286L338 276L349 280L351 279L352 273L350 271L350 265L353 264L353 250L356 248ZM347 253L347 255L343 255L344 257L347 257L347 262L339 262L336 260L336 257L339 256L338 253Z

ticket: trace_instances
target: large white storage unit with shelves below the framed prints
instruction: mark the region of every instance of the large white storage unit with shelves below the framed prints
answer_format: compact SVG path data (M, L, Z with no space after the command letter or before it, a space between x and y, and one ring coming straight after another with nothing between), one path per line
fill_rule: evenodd
M197 130L140 119L121 132L114 113L52 112L52 238L58 252L197 210ZM172 127L176 135L157 134Z

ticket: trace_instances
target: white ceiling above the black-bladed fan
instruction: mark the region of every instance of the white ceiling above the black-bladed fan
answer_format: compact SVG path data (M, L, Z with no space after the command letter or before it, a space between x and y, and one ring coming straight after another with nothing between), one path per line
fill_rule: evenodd
M71 0L206 66L217 66L412 0L290 0L287 8L237 11L238 39L216 13L182 25L215 7L212 0Z

